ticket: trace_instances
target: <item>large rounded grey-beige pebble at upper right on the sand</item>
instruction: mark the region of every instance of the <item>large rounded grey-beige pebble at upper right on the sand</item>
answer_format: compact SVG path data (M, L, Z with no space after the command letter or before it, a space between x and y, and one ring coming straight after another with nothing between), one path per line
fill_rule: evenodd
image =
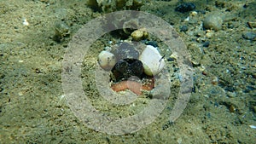
M203 21L203 26L206 29L213 29L214 31L221 30L223 20L218 14L207 14Z

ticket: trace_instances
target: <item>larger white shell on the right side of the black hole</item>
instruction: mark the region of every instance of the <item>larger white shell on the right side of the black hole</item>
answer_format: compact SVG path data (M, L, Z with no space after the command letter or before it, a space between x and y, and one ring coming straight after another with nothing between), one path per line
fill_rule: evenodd
M158 74L165 66L165 61L162 59L159 51L151 45L147 45L139 60L143 62L144 72L148 76Z

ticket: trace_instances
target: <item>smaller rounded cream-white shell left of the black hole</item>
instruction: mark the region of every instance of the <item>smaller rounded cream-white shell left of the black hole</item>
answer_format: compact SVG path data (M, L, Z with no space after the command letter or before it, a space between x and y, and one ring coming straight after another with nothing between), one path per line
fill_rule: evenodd
M105 70L105 71L110 71L113 66L115 65L116 63L116 60L115 60L115 56L106 51L106 50L103 50L100 54L99 54L99 65Z

